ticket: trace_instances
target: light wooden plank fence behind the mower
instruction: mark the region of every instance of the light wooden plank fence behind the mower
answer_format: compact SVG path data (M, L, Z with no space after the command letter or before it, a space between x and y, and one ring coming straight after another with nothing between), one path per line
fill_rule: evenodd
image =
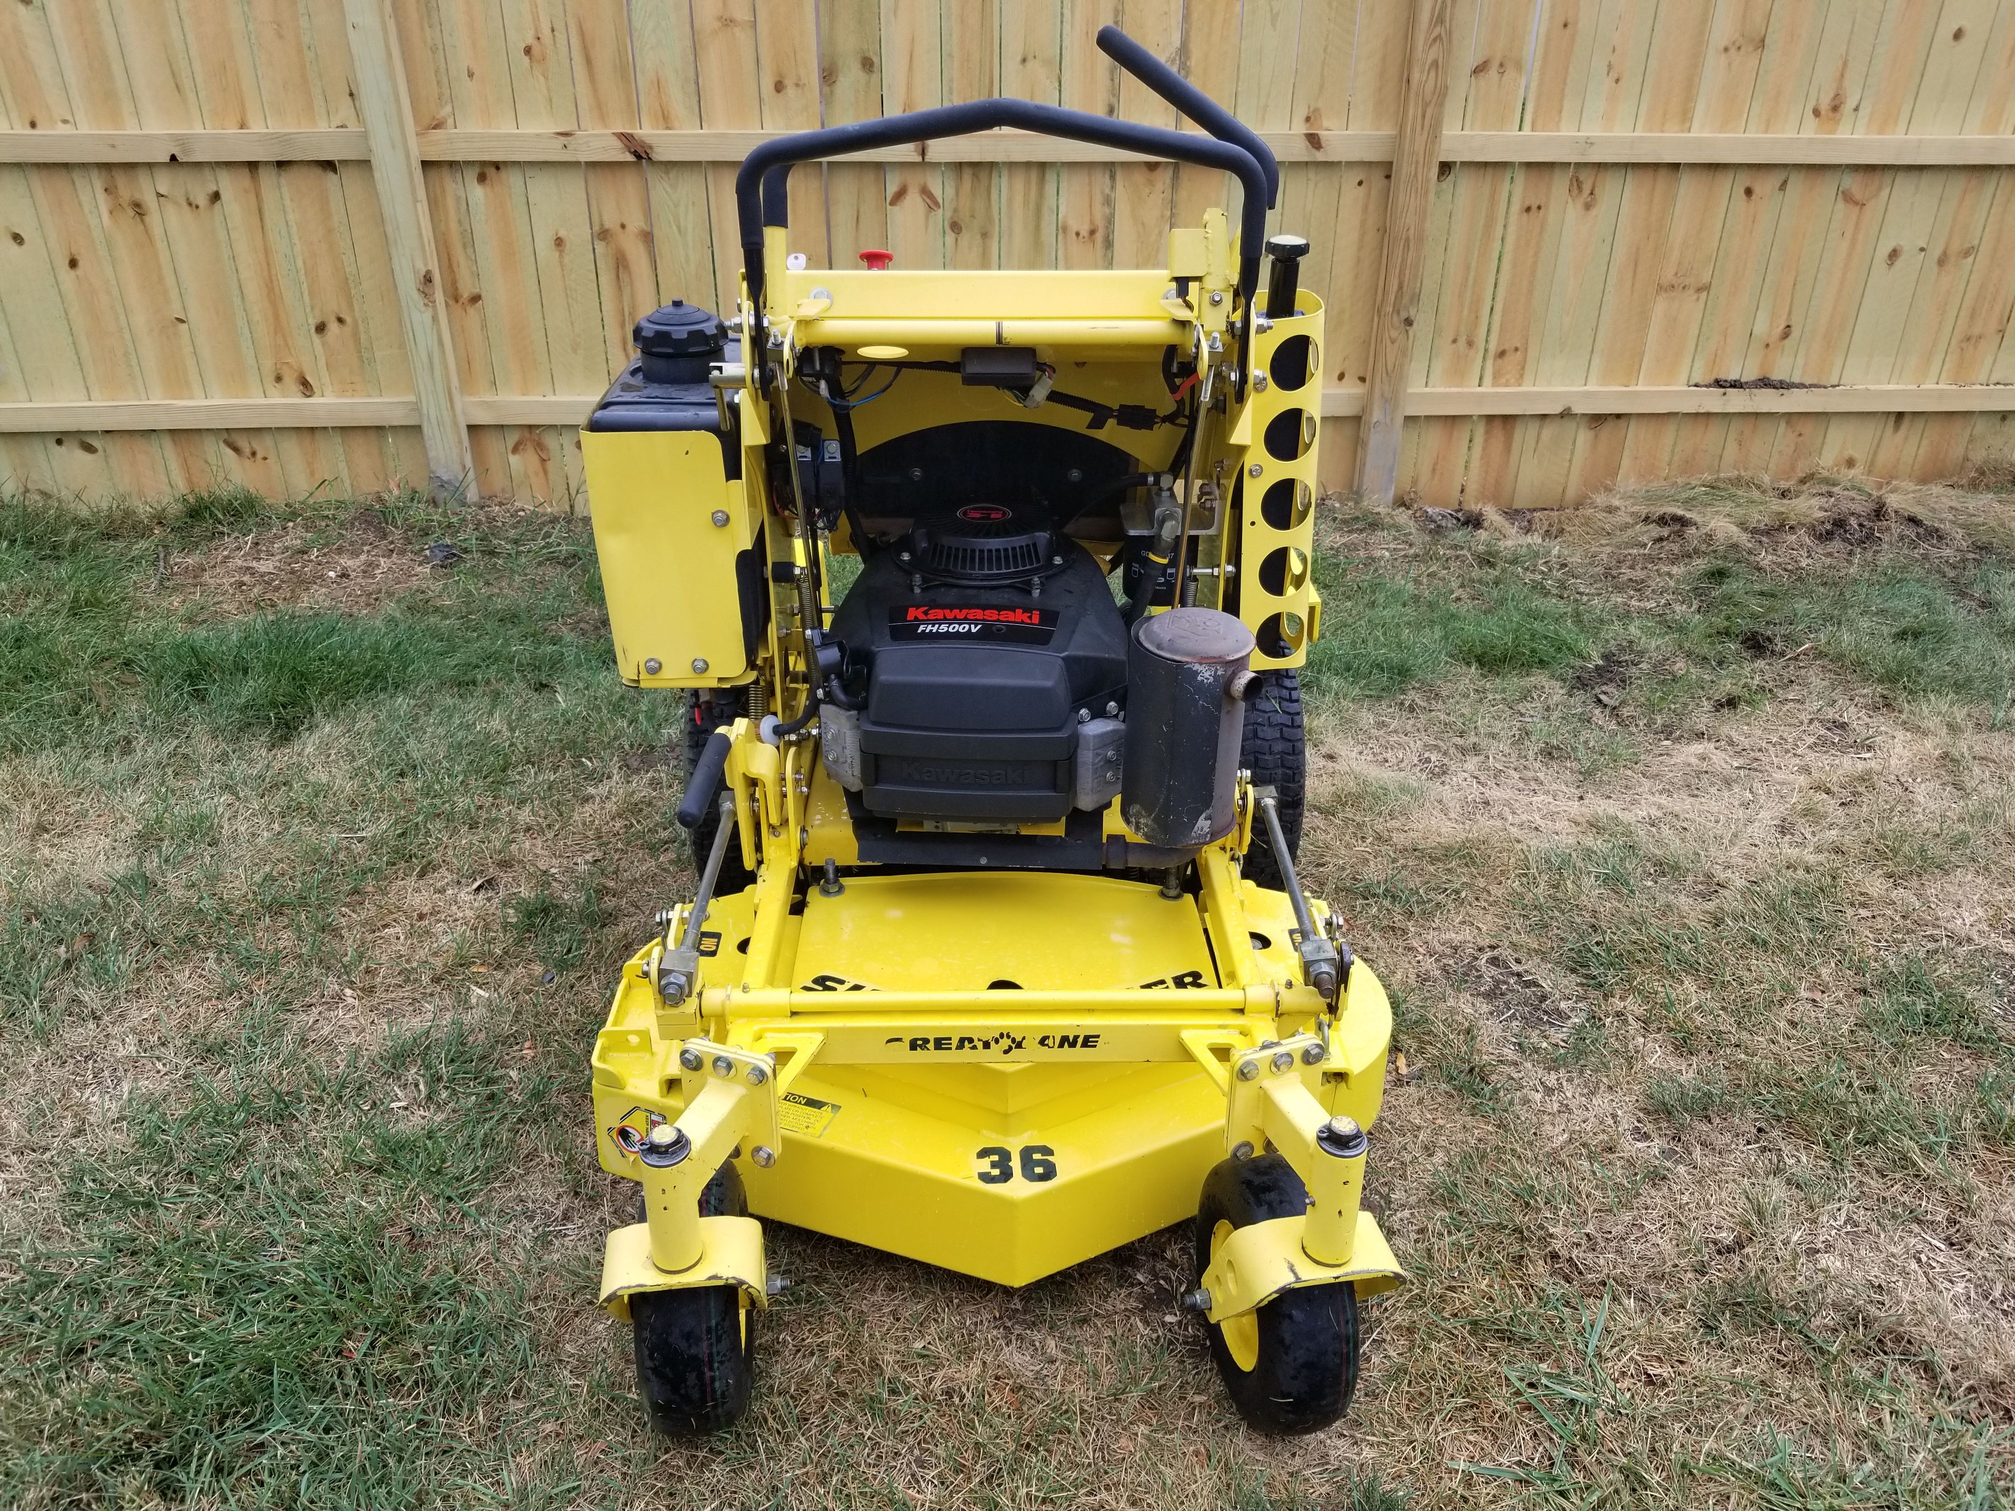
M2015 443L2005 0L8 0L0 486L572 500L635 316L727 302L752 143L993 93L1173 123L1104 22L1284 161L1334 486ZM814 262L983 268L1159 266L1235 187L993 135L792 191Z

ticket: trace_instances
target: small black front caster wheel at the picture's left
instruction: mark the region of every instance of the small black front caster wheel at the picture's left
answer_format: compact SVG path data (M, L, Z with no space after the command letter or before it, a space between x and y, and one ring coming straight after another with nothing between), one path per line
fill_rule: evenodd
M699 1199L701 1217L748 1217L742 1173L723 1164ZM671 1436L717 1432L750 1408L756 1314L740 1285L645 1291L631 1297L637 1394L651 1426Z

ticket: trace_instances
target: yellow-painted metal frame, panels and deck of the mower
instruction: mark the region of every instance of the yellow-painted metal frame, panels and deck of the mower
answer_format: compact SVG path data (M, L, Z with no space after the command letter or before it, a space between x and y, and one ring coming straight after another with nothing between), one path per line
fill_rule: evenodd
M772 566L812 566L794 500L770 496L766 457L784 433L784 395L790 419L834 427L822 399L790 387L810 347L848 361L1034 347L1068 373L1070 393L1157 411L1173 347L1211 395L1195 449L1217 528L1193 542L1199 602L1227 606L1235 584L1261 643L1253 665L1302 665L1320 633L1310 554L1322 302L1302 294L1294 318L1259 320L1237 383L1235 266L1217 210L1169 238L1165 270L1145 272L792 270L772 232L766 308L744 296L733 314L770 387L754 371L723 379L740 477L725 475L735 469L721 469L711 435L582 437L625 677L701 689L754 679L758 707L784 719L806 709L802 631L824 625L802 625L796 592L772 588L770 627L746 657L731 568L752 548ZM1001 417L1084 429L1082 413L1024 409L917 369L854 425L866 451ZM1155 471L1175 449L1163 431L1106 439ZM1102 560L1118 550L1084 544ZM844 536L826 548L842 550ZM1273 1148L1312 1207L1221 1245L1205 1277L1211 1320L1294 1285L1398 1283L1358 1207L1364 1156L1318 1140L1334 1116L1376 1120L1390 1007L1362 963L1336 1003L1302 983L1288 899L1239 870L1253 824L1243 782L1235 832L1199 854L1197 892L1173 901L1108 874L875 874L816 733L766 743L756 717L731 725L723 790L756 882L713 899L699 981L667 1001L655 983L665 941L687 923L675 909L665 937L625 967L594 1046L602 1169L643 1183L647 1199L647 1221L609 1237L611 1310L691 1285L764 1299L760 1225L699 1217L699 1193L729 1160L758 1217L1024 1285L1189 1219L1217 1160ZM1136 840L1116 804L1104 832ZM800 880L826 860L848 868L830 897ZM1314 913L1326 929L1328 911Z

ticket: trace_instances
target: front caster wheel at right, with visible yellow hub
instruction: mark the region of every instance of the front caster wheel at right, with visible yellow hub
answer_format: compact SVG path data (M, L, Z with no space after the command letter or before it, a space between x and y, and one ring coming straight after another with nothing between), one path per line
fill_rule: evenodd
M1197 1205L1197 1283L1237 1229L1308 1211L1308 1189L1280 1154L1223 1160ZM1257 1312L1205 1324L1231 1404L1255 1432L1314 1432L1358 1382L1358 1293L1346 1283L1284 1291Z

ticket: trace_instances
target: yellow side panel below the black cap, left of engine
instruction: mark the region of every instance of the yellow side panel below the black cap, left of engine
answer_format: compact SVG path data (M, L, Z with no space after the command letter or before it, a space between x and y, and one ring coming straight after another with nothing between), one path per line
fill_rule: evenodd
M719 437L582 431L580 455L623 681L721 687L746 679L735 558L754 546L756 520L742 484L727 482Z

